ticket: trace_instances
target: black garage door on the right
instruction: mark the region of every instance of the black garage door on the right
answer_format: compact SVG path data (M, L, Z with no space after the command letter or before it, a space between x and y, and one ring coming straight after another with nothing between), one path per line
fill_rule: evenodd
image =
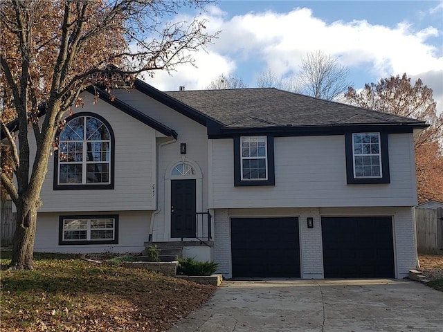
M395 277L390 216L323 217L325 278Z

